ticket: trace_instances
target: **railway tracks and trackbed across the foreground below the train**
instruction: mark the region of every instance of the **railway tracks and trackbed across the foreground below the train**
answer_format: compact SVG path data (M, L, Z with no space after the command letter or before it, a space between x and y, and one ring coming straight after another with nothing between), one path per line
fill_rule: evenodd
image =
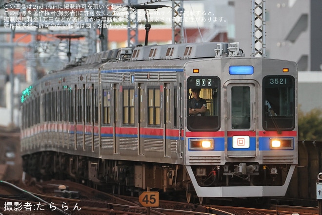
M20 211L2 210L0 213L3 215L6 212L10 212L8 213L10 215L31 215L30 212L37 212L35 215L292 215L295 213L301 215L318 215L317 208L308 207L275 205L271 206L270 209L255 209L197 205L167 200L160 200L160 207L158 208L148 209L140 206L138 197L107 194L70 181L51 181L50 183L37 183L34 186L27 187L30 190L42 194L29 193L26 191L27 189L23 190L17 186L11 187L9 185L10 183L3 181L0 183L1 205L7 206L8 202L11 202L12 206L14 204L25 206L28 203L33 205L33 208L31 211L27 211L24 207ZM65 186L68 190L66 192L57 192L60 185ZM70 192L70 196L66 196L68 192ZM76 198L71 198L73 197L72 195Z

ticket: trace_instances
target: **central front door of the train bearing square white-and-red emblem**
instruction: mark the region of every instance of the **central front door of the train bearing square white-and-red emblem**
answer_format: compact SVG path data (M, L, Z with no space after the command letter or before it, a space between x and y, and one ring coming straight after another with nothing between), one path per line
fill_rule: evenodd
M256 83L225 85L225 154L256 156Z

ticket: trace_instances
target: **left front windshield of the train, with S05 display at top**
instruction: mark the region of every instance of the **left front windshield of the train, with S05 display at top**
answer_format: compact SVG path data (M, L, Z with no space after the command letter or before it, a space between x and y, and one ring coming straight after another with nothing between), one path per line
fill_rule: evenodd
M187 127L192 131L220 128L220 79L190 77L187 83Z

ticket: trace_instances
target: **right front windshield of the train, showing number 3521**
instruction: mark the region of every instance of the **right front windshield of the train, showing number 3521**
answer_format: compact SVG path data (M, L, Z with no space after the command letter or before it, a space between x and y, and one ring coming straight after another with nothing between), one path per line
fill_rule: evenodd
M263 129L292 130L295 127L295 79L266 76L263 79Z

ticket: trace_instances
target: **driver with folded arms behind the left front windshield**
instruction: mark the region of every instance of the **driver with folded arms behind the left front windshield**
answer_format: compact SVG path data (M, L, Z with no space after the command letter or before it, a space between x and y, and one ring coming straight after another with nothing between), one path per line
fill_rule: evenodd
M207 102L199 97L201 89L191 89L192 98L189 100L189 114L203 116L207 110Z

